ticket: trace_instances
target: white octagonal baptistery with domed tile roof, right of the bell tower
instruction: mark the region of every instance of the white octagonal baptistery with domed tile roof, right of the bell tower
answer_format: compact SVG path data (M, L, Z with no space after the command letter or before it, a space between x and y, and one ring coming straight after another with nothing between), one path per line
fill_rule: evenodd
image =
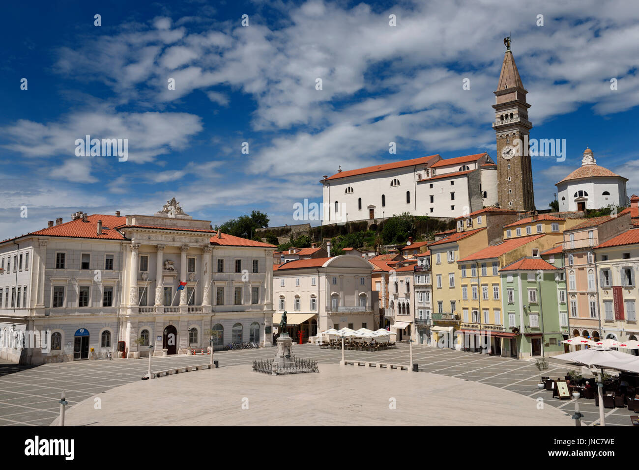
M597 165L592 150L583 152L581 167L556 183L559 211L627 206L627 178Z

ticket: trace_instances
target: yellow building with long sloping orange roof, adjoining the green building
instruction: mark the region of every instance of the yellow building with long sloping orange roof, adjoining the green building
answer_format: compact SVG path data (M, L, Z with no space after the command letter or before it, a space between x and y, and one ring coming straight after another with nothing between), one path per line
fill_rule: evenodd
M506 328L499 269L522 257L539 256L558 239L559 235L546 236L543 232L511 238L459 259L460 347L501 354L500 335L506 333Z

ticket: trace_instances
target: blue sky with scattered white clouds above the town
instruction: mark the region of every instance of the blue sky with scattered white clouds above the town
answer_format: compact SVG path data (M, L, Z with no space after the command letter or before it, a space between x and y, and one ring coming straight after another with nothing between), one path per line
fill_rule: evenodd
M531 137L567 145L565 162L532 160L537 208L586 146L639 193L633 2L8 3L0 239L75 211L153 213L173 196L214 225L252 209L291 224L293 204L321 201L318 181L338 165L495 158L492 92L509 33ZM86 134L128 139L127 162L75 156Z

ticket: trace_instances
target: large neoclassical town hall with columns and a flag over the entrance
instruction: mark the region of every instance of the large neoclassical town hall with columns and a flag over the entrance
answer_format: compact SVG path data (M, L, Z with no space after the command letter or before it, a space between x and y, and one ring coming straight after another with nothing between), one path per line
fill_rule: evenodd
M209 330L215 349L270 345L274 248L215 232L174 199L152 216L49 222L0 244L0 332L18 338L0 356L36 364L118 349L180 354L206 349ZM22 339L31 331L48 332L46 344L31 347Z

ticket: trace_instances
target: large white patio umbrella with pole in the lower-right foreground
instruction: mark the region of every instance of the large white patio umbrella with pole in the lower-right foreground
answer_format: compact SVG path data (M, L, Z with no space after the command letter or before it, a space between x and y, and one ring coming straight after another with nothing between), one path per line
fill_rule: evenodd
M630 372L639 372L639 358L626 354L626 352L613 351L607 347L590 347L589 349L581 349L581 351L566 352L552 356L553 359L567 361L579 365L585 365L589 368L600 368L599 377L597 378L597 393L599 395L599 421L602 426L606 425L603 409L603 384L601 383L601 375L603 369L629 370Z

